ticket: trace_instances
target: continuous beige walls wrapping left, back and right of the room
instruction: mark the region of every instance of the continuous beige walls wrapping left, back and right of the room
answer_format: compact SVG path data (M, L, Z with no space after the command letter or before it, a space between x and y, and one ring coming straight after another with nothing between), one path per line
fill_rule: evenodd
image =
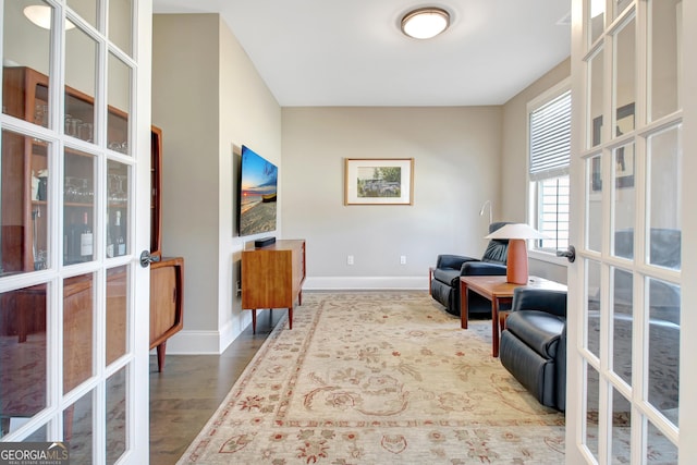
M234 293L240 250L254 237L235 233L233 146L279 166L271 234L307 240L305 289L427 289L438 254L482 254L486 200L494 220L525 220L525 106L568 75L564 62L497 107L281 109L217 14L155 15L152 54L162 249L186 264L172 353L220 352L250 320ZM344 206L346 158L414 158L414 205Z

